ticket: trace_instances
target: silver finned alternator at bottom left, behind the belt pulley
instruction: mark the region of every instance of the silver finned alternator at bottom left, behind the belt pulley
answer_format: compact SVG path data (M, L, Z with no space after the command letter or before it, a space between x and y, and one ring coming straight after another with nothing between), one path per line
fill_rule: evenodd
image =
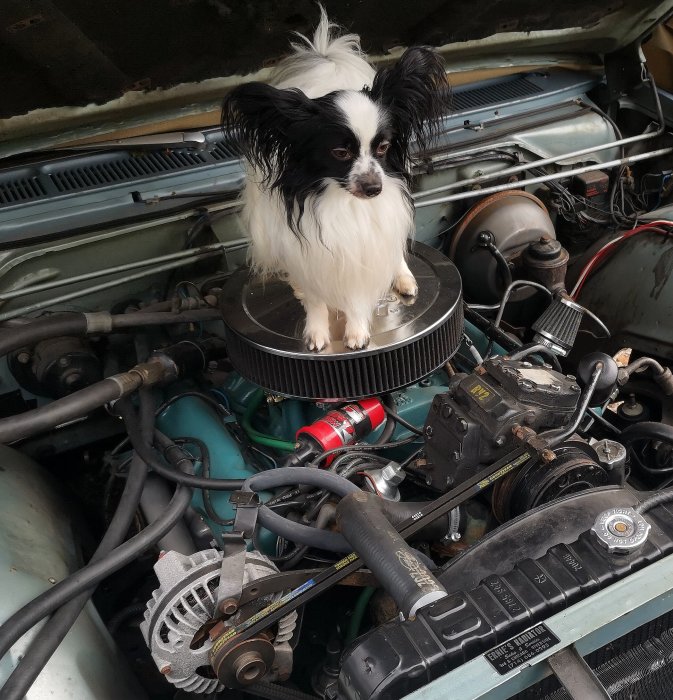
M222 552L206 549L191 556L167 552L154 565L159 588L147 603L145 620L140 629L159 671L178 688L192 693L212 693L224 686L217 679L210 663L212 646L204 625L216 616L216 598L222 568ZM276 566L259 552L247 552L243 584L278 573ZM249 603L272 603L282 593L270 594ZM233 624L244 619L246 607L231 617ZM297 613L292 612L279 621L273 639L274 660L257 675L278 667L277 679L289 675L292 650L289 641L296 626ZM199 634L200 633L200 634ZM271 646L269 644L269 646ZM267 676L268 677L268 676ZM243 674L239 682L259 680Z

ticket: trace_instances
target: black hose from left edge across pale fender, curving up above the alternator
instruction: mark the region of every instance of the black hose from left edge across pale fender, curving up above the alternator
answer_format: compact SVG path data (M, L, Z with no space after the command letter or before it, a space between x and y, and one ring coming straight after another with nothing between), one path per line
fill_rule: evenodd
M0 626L0 658L40 620L153 547L184 516L191 500L191 489L178 487L161 518L113 549L100 561L90 562L17 610Z

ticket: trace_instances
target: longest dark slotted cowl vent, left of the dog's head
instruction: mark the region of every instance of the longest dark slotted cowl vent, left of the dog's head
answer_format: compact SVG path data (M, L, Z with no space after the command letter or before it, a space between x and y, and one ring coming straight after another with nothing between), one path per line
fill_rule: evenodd
M73 192L135 180L147 175L192 168L206 162L208 161L203 154L189 151L144 153L137 157L127 156L91 165L56 170L50 173L49 177L59 192Z

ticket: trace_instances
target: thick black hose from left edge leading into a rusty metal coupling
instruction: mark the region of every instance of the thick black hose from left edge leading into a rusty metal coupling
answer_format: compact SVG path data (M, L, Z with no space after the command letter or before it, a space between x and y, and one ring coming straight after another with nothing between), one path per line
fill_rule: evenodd
M141 384L139 374L125 372L116 375L116 379L108 377L46 406L3 418L0 420L0 443L23 440L86 416L106 403L135 391Z

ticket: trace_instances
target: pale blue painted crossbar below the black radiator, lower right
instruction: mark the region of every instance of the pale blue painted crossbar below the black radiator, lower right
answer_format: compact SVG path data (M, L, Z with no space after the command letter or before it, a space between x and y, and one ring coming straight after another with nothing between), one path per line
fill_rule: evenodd
M560 642L529 664L501 676L481 655L406 700L506 700L550 675L544 661L560 649L575 645L585 656L672 609L673 555L544 620Z

